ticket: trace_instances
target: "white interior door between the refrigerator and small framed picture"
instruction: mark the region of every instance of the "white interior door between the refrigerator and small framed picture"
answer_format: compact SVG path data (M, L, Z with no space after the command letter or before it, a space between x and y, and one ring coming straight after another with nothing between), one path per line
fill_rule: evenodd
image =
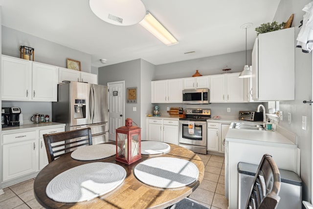
M109 140L116 140L115 130L124 126L125 81L108 83L109 88Z

